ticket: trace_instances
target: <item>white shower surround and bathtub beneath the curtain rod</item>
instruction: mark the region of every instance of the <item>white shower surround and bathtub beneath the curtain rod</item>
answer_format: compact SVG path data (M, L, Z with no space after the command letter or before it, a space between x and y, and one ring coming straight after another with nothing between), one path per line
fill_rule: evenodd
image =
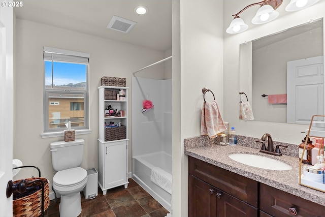
M132 177L171 211L172 79L132 78Z

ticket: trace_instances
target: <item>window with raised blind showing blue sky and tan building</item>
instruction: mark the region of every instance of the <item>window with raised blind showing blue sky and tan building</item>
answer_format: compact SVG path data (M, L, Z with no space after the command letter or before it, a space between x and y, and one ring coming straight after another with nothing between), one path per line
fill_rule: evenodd
M44 47L44 133L89 129L89 54Z

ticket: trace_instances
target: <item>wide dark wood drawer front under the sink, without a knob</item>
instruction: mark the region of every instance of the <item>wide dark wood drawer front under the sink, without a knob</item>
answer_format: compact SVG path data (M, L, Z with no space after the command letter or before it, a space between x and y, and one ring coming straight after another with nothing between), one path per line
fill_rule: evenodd
M257 181L192 157L188 157L188 170L189 174L257 207Z

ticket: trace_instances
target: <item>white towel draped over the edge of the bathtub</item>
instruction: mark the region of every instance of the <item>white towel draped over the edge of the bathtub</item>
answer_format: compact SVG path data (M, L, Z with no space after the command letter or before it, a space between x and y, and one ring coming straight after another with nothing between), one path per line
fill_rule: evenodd
M150 179L160 188L172 194L172 174L159 167L154 167L151 169Z

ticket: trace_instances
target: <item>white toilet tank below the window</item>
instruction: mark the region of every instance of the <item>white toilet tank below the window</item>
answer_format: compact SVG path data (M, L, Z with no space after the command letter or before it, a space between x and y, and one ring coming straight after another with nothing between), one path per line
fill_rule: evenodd
M52 166L55 171L79 167L83 158L83 139L51 142Z

